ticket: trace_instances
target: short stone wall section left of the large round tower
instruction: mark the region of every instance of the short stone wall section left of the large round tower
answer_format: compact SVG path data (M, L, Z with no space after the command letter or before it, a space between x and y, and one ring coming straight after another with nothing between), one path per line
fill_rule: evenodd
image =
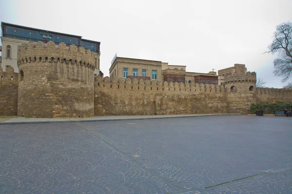
M11 66L6 72L0 67L0 115L17 115L18 73L14 73Z

